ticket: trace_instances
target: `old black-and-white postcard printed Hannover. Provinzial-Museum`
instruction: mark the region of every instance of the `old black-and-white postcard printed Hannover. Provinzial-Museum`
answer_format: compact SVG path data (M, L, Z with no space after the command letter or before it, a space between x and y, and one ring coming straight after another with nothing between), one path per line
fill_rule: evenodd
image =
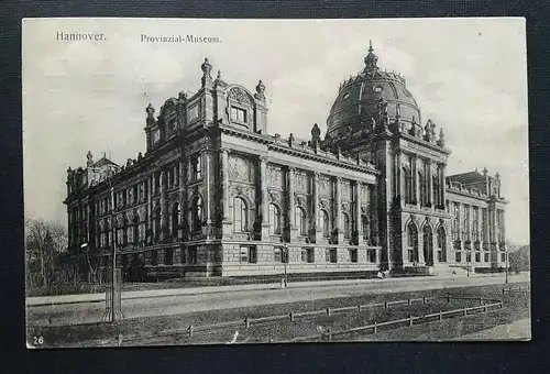
M29 348L529 340L525 19L24 19Z

